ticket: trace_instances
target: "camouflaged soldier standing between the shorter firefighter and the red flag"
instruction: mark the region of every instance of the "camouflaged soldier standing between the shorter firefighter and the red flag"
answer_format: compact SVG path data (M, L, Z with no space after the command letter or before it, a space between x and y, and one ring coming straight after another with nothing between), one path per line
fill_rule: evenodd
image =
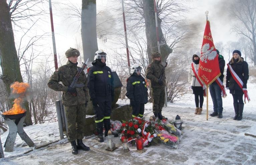
M161 64L160 53L153 53L151 55L151 58L152 62L147 68L146 77L147 79L150 79L151 83L151 91L153 97L153 113L155 117L158 117L160 120L162 120L162 108L165 104L165 73L162 81L159 78L165 67Z

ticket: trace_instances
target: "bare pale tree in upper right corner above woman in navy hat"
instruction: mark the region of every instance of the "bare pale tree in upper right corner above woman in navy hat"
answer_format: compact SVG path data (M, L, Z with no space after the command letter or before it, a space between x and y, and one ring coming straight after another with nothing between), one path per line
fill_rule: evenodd
M248 38L252 45L254 66L256 65L256 1L236 0L231 6L231 16L238 21L234 24L234 31Z

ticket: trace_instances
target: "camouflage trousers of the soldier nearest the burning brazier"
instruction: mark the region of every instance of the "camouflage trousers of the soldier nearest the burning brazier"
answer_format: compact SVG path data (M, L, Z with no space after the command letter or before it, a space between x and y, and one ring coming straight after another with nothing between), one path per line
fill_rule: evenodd
M68 141L74 141L84 137L83 129L85 124L85 108L85 104L65 106L68 127Z

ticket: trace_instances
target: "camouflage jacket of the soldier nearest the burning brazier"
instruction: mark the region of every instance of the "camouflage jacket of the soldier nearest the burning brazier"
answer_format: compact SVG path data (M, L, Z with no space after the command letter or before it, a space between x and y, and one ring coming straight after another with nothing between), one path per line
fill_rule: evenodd
M86 100L88 101L88 92L85 85L87 78L83 71L81 72L80 77L76 83L83 83L84 86L80 88L76 87L76 96L73 96L71 93L67 92L67 88L73 81L73 77L75 76L79 68L80 67L77 66L77 63L72 64L68 61L66 65L59 67L48 81L47 85L49 88L55 91L63 91L62 103L65 106L84 104ZM62 82L64 86L59 84L59 82Z

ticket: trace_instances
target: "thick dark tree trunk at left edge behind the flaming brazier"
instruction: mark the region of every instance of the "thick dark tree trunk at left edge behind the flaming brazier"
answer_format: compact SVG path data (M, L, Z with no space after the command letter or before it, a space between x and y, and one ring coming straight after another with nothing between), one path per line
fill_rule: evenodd
M10 15L10 8L8 7L6 1L0 1L0 65L2 69L1 79L3 80L6 90L7 97L9 98L11 90L10 86L15 81L23 82L19 59L17 56L17 51L15 48L14 35L12 30L12 22ZM13 99L8 99L9 107L12 107ZM24 103L24 108L27 111L26 119L24 123L26 125L32 125L32 120L30 117L30 111L28 102Z

